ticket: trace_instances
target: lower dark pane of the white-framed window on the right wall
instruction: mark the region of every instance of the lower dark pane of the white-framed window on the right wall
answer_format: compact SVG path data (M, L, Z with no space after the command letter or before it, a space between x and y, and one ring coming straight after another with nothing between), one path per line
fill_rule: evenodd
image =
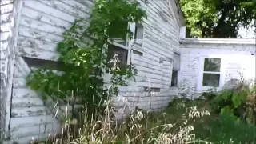
M218 87L220 74L203 74L202 86Z

